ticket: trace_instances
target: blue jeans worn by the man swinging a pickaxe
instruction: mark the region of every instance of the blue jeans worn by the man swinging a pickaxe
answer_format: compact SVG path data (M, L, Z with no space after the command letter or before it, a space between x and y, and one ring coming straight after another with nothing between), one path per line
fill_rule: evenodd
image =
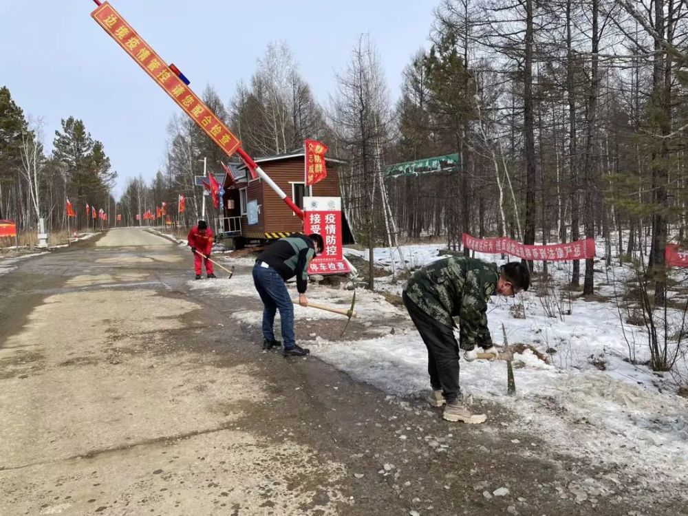
M282 343L285 350L296 344L294 336L294 305L289 297L284 280L273 268L264 268L256 264L253 267L253 283L263 301L263 336L268 341L275 340L272 325L275 313L279 310L282 321Z

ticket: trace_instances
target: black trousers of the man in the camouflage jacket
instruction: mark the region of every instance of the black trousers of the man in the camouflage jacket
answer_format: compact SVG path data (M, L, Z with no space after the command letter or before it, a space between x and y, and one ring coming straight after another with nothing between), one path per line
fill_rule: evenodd
M461 395L459 387L459 345L453 329L439 323L420 310L402 292L402 299L416 325L425 346L428 348L428 374L433 389L442 390L444 399L451 403Z

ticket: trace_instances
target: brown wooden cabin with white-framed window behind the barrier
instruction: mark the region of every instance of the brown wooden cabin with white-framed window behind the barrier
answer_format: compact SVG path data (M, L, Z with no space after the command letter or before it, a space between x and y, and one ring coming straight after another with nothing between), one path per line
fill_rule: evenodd
M255 160L270 178L303 209L303 197L339 197L341 160L325 158L327 177L305 188L305 153L303 150ZM303 222L260 178L250 179L241 163L230 163L230 173L216 178L224 187L222 216L217 219L219 238L232 239L240 249L250 242L265 242L303 230ZM348 229L348 228L347 228Z

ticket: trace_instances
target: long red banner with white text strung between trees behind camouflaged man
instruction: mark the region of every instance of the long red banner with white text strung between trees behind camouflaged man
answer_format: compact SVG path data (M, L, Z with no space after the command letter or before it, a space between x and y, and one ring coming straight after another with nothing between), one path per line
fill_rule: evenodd
M508 237L475 238L464 233L463 243L469 249L489 254L511 255L526 260L563 261L584 260L595 256L595 241L592 238L577 240L569 244L548 246L526 246Z

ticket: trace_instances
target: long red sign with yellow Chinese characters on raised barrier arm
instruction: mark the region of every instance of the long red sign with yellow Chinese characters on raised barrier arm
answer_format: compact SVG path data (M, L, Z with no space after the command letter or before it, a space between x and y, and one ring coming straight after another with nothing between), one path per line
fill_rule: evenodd
M198 127L205 131L220 149L230 156L239 148L241 142L226 125L184 84L182 79L165 64L153 48L131 28L131 25L109 3L104 2L102 6L91 13L91 16L171 96L172 100L196 122Z

